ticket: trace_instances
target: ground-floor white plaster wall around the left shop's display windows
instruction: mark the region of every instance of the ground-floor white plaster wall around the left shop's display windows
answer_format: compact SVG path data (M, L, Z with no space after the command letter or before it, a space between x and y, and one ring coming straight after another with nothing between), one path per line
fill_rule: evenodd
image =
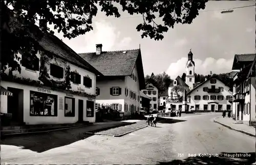
M95 109L94 109L94 117L86 117L86 110L87 110L87 100L89 98L87 97L81 97L77 95L73 95L73 98L75 98L75 117L65 117L65 96L67 96L66 93L58 92L58 91L52 91L51 94L57 95L57 116L30 116L30 91L38 92L37 87L31 87L21 84L16 84L14 82L7 82L2 81L1 86L4 88L18 88L24 90L24 122L26 124L61 124L61 123L76 123L78 121L78 99L83 100L83 121L89 121L89 122L95 122ZM63 98L63 109L59 109L59 97ZM90 101L95 100L92 99ZM1 102L2 103L2 102Z

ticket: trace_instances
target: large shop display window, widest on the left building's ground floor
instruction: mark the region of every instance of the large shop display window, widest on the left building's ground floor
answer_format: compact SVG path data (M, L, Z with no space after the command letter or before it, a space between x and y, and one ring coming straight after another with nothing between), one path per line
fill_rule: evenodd
M57 95L30 91L30 116L57 116Z

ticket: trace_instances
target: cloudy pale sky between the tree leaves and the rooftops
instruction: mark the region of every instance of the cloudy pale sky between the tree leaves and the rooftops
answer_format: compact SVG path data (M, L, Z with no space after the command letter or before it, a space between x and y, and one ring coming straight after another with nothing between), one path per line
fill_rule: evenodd
M140 44L144 75L165 71L171 78L181 76L186 71L190 48L197 74L227 73L234 54L255 53L255 7L225 14L221 11L248 5L255 5L255 1L209 1L191 24L175 24L174 29L164 33L162 41L142 39L136 26L143 18L121 10L121 18L115 18L99 9L93 18L94 30L85 35L71 40L56 31L55 35L77 53L95 52L96 44L103 45L102 51L138 49Z

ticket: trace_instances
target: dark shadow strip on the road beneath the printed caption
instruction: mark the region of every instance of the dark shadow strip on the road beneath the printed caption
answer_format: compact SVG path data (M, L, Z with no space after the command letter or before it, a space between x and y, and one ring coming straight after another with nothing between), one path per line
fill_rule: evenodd
M224 155L226 154L226 155ZM228 155L237 155L234 157L228 156ZM241 155L239 155L241 154ZM244 156L243 156L244 155ZM246 156L247 155L247 156ZM250 155L250 156L248 156ZM222 152L219 154L218 157L188 157L183 160L173 160L169 162L159 162L158 164L161 165L167 165L167 164L196 164L196 165L201 165L201 164L252 164L255 162L255 153L250 152L250 153L227 153L227 152Z

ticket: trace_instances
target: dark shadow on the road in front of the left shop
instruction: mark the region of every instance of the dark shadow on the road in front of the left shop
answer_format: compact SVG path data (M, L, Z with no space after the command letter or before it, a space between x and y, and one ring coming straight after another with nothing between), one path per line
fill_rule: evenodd
M93 134L82 134L70 130L61 130L56 132L28 134L22 136L8 137L2 140L1 145L12 145L28 149L38 153L72 144L74 142L86 139Z

